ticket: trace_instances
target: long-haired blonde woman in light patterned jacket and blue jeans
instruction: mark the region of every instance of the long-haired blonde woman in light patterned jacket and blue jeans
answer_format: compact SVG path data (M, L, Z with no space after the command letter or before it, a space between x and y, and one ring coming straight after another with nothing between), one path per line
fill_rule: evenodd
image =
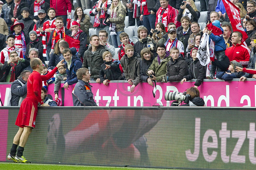
M124 32L124 19L126 8L120 0L113 0L110 6L110 17L107 22L110 22L110 35L112 39L112 45L118 48L121 45L119 35Z

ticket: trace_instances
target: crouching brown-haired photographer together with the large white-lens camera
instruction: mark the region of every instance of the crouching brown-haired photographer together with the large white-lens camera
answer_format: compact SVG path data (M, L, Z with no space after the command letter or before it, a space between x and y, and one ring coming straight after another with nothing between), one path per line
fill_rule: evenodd
M175 92L168 92L170 95L165 94L165 100L170 101L176 99L176 101L172 102L171 106L204 106L204 99L200 97L200 92L197 88L190 87L186 91L187 93L184 92L183 95L172 95L175 94ZM176 98L177 96L178 99ZM185 96L184 99L181 99L182 96ZM185 104L180 104L181 101L184 101L183 103Z

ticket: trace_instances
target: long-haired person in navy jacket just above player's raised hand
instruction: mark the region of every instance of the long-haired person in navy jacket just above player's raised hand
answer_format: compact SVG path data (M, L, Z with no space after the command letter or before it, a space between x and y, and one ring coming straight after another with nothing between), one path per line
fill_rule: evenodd
M53 69L59 63L59 58L61 56L59 43L61 41L64 41L64 40L61 38L57 41L57 43L55 44L55 46L53 48L53 52L50 55L50 59L49 59L49 63L48 63L48 68L50 68L50 69Z

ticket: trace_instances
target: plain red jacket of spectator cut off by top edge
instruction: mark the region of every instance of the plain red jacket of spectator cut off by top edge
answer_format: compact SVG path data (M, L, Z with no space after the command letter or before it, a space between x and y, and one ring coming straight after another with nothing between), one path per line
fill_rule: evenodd
M56 16L67 15L67 10L71 12L72 4L70 0L51 0L50 7L56 10Z

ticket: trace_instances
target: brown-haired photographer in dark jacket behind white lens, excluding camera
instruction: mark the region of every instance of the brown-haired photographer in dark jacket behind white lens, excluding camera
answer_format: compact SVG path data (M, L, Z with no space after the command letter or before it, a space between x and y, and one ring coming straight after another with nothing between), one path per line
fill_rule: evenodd
M188 103L180 106L204 106L204 99L200 97L200 92L197 88L191 87L187 89L187 95L190 95ZM178 101L173 101L171 106L178 106Z

